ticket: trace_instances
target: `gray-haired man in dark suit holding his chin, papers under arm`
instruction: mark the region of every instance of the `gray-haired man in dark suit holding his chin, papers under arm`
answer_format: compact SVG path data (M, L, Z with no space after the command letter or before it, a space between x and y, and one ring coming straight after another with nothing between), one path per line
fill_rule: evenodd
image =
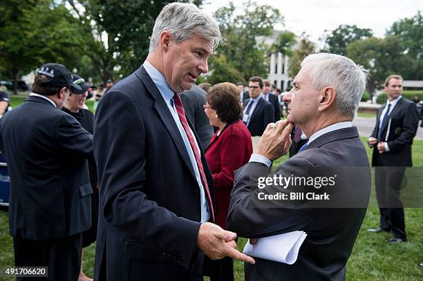
M247 279L345 279L346 262L370 194L366 149L351 125L366 79L366 70L341 55L306 57L292 82L294 88L283 97L288 103L288 119L267 125L250 162L236 171L227 217L229 230L250 238L251 244L256 238L260 242L291 231L307 233L294 264L255 258L254 268L246 267ZM263 177L256 175L267 176L272 161L288 152L294 124L308 142L281 164L272 178L265 177L272 181L259 186L256 182ZM332 177L333 186L325 186L323 176L328 176L327 180ZM274 178L287 181L283 186ZM303 178L307 183L301 183ZM270 195L281 199L272 200Z

